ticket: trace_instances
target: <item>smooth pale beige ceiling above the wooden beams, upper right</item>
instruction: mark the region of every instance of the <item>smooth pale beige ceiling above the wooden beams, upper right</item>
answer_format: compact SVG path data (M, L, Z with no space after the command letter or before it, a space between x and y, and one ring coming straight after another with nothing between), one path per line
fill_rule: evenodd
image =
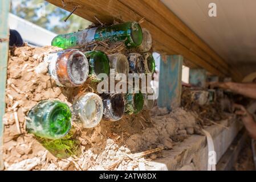
M161 0L244 76L256 72L256 0ZM217 17L208 15L216 3Z

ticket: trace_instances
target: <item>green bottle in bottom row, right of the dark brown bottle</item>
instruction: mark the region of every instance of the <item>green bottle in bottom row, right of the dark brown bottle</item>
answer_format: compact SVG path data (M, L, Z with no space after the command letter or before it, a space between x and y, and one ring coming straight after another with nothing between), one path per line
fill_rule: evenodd
M141 92L139 93L128 93L125 96L125 113L127 114L138 114L143 109L144 98Z

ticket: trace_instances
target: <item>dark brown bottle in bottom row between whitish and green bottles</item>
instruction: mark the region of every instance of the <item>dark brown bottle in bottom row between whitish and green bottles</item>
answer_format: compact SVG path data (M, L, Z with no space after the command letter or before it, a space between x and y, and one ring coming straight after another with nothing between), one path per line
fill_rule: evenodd
M103 101L103 118L108 121L118 121L123 118L125 103L121 93L101 94Z

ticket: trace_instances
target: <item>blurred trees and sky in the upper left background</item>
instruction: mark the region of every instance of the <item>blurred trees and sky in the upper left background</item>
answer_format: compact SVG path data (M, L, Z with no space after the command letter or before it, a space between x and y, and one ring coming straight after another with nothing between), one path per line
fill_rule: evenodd
M15 2L14 2L15 1ZM87 28L91 22L43 0L12 0L11 13L56 34L75 32Z

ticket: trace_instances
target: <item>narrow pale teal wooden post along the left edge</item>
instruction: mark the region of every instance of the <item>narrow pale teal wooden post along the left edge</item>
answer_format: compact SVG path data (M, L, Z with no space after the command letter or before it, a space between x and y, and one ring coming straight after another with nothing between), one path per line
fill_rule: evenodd
M8 16L10 9L9 0L0 0L0 170L3 169L2 145L3 145L3 114L5 113L5 86L6 69L9 49ZM7 40L6 40L7 39Z

